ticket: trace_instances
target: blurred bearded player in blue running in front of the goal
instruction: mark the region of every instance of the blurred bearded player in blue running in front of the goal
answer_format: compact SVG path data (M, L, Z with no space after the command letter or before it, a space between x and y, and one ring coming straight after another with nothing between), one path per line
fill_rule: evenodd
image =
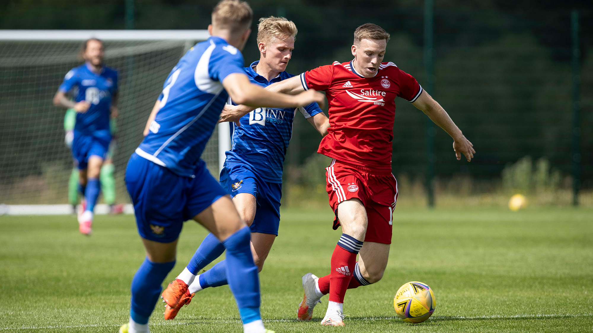
M79 170L79 191L85 197L78 229L90 235L101 166L111 142L110 117L118 113L117 72L103 65L103 41L85 41L81 53L86 62L66 73L53 104L76 111L72 155ZM68 93L74 101L66 96Z

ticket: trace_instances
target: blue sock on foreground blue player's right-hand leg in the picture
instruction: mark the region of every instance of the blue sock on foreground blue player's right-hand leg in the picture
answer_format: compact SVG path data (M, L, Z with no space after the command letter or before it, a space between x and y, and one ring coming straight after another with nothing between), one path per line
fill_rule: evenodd
M260 289L257 266L251 254L251 231L245 227L233 233L223 244L227 248L227 279L243 324L262 319L259 312Z

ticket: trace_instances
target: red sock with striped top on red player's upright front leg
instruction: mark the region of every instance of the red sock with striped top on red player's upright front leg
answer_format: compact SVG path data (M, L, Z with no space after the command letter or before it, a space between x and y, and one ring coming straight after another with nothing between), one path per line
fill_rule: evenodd
M331 255L330 302L344 303L346 290L354 274L356 255L361 248L362 241L342 233Z

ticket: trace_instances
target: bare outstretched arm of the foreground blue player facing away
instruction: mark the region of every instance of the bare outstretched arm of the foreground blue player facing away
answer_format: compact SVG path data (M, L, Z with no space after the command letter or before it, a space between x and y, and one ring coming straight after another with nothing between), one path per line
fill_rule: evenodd
M316 91L305 91L298 95L279 94L251 84L247 75L242 73L229 74L222 85L227 90L231 100L248 107L302 107L317 102L323 104L324 95Z

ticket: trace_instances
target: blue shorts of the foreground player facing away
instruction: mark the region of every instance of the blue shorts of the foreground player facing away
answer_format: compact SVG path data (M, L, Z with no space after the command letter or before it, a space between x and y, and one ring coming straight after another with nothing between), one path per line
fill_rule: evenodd
M179 237L183 222L228 195L204 161L196 167L195 175L195 178L183 177L132 154L127 162L126 187L142 238L173 242Z

